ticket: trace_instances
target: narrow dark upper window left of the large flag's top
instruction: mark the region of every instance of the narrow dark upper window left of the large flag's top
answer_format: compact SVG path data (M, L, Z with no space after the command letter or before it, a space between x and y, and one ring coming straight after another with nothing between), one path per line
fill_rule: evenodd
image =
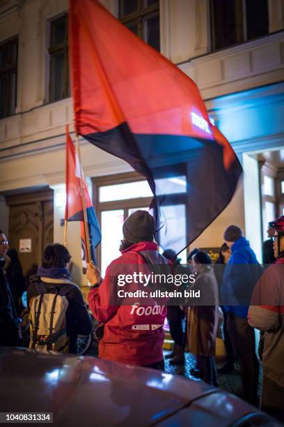
M53 38L53 27L52 24L58 20L65 20L65 36L64 40L61 43L52 44ZM69 55L68 55L68 12L65 11L61 15L56 15L49 20L49 45L47 48L49 54L49 103L56 103L60 100L70 98L70 75L69 75ZM63 96L61 98L55 99L54 93L54 82L55 78L53 76L53 63L56 55L63 53L64 54L64 70L63 70Z

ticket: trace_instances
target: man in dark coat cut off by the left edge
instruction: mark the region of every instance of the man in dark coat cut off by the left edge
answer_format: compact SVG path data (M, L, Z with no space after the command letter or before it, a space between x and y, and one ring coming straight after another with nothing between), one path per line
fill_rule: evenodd
M17 345L17 313L8 281L3 272L8 240L0 230L0 345Z

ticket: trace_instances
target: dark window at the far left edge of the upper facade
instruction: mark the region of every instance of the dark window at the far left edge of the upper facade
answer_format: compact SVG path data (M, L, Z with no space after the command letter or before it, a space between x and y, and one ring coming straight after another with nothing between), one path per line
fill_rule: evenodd
M11 117L14 114L16 114L17 110L17 90L18 90L18 73L19 73L19 35L13 36L11 38L8 38L6 40L3 40L0 42L0 48L4 45L13 45L16 42L16 59L15 63L9 63L9 56L10 56L10 50L8 50L8 64L6 66L3 66L0 68L0 77L6 77L6 81L8 81L8 97L7 97L7 103L6 103L6 112L4 113L3 117L0 117L0 120L6 119L7 117ZM12 101L12 93L11 93L11 87L10 87L10 76L15 73L15 99ZM11 112L12 104L15 104L15 110Z

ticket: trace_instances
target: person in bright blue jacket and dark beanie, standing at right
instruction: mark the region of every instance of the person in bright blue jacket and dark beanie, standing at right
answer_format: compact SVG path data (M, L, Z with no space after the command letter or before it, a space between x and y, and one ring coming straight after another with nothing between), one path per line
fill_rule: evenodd
M239 227L230 225L223 237L232 252L221 285L221 302L228 313L226 327L241 369L242 398L257 405L259 364L255 332L247 322L247 315L253 287L260 276L260 264Z

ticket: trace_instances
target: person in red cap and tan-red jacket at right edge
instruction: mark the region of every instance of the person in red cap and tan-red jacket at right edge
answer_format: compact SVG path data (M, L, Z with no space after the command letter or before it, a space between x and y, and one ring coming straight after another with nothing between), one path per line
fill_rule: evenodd
M269 225L274 229L276 261L255 286L248 323L263 334L260 407L284 421L284 216Z

